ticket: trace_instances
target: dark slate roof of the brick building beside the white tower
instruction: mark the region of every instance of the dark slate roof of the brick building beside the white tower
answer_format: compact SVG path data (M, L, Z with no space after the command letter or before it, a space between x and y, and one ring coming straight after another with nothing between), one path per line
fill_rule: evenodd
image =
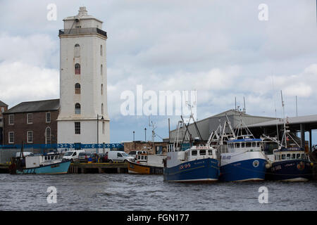
M58 110L58 108L59 108L59 99L42 100L42 101L25 101L23 103L13 106L11 109L4 112L4 114L42 112L42 111Z

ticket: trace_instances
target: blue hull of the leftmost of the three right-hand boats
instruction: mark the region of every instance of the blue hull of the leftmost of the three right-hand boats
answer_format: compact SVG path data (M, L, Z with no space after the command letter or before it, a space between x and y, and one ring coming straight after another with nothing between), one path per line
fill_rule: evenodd
M219 173L218 160L207 158L164 167L163 179L174 182L214 182L218 181Z

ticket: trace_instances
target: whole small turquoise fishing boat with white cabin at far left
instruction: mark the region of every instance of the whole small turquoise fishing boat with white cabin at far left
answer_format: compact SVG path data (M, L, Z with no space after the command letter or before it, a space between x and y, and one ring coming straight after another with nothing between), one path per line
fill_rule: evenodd
M63 160L58 153L12 158L11 174L66 174L70 160Z

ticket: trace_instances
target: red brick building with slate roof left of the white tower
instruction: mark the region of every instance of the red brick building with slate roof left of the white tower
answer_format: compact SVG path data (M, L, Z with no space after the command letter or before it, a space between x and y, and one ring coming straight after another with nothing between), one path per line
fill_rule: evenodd
M57 143L59 99L23 102L4 115L4 144Z

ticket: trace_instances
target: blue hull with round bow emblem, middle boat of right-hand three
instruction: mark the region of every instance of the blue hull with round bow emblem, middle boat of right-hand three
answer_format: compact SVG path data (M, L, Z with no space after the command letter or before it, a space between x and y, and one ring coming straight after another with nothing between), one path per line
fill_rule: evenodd
M251 158L220 166L220 181L263 181L266 160Z

